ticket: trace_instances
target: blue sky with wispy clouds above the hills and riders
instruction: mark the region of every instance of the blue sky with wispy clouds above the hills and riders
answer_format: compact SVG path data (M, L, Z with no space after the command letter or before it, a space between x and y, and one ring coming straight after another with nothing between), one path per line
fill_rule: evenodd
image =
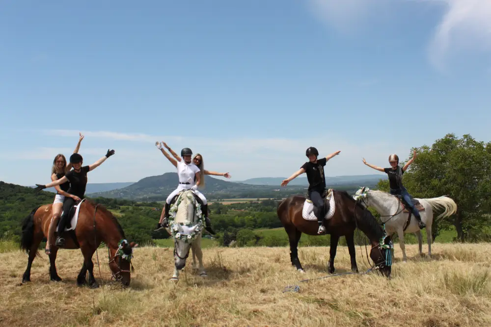
M89 182L174 171L200 152L233 180L290 176L315 146L327 176L376 173L446 133L490 141L491 1L0 2L0 180Z

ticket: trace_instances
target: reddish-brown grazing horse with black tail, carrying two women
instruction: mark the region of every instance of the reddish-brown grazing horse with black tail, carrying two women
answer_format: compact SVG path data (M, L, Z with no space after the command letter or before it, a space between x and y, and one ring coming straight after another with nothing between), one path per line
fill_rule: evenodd
M48 235L52 213L52 204L46 204L35 208L26 217L22 224L21 249L29 254L27 269L22 277L22 282L30 281L30 269L32 261L38 253L38 247L44 237ZM55 232L56 234L56 232ZM85 275L89 272L89 286L98 287L93 273L94 264L92 255L104 242L109 248L109 267L112 277L121 281L123 286L128 286L131 280L130 265L133 248L137 246L134 242L128 243L125 239L124 231L112 213L100 204L95 204L85 200L82 202L79 211L79 218L75 232L64 231L65 245L63 249L81 249L83 254L83 265L77 285L82 286L86 283ZM52 245L50 254L50 277L51 280L60 281L61 278L56 273L56 253L58 247ZM133 266L131 267L133 270Z

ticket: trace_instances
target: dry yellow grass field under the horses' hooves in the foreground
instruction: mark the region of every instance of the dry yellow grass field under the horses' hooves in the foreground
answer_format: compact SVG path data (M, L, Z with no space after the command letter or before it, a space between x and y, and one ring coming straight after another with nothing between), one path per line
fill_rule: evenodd
M102 281L94 255L98 289L76 286L78 250L58 256L62 282L49 280L41 252L22 285L27 255L11 250L0 253L0 326L491 326L490 244L436 243L432 259L419 257L417 245L407 249L403 263L395 245L391 280L370 273L300 282L327 276L328 248L300 248L300 274L287 248L213 247L203 251L208 278L193 274L190 256L172 283L172 249L137 248L125 290L108 280L104 249ZM338 248L335 266L349 269L346 248ZM299 292L283 293L288 285Z

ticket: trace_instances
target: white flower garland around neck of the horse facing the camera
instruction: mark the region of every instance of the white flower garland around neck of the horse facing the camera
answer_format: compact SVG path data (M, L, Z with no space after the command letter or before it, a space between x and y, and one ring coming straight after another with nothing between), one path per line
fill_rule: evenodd
M181 193L179 197L177 198L177 201L171 205L169 209L169 229L171 232L172 237L175 240L181 240L184 241L185 243L191 243L198 237L198 235L201 233L203 230L203 224L205 222L205 219L203 217L203 213L201 211L201 204L196 200L193 199L192 194L187 194L188 200L192 201L194 200L194 216L197 217L196 223L176 223L175 218L177 214L177 208L179 207L179 204L182 202L184 197L184 193ZM184 229L183 227L186 226L188 230L191 230L191 232L188 233L182 233L181 231Z

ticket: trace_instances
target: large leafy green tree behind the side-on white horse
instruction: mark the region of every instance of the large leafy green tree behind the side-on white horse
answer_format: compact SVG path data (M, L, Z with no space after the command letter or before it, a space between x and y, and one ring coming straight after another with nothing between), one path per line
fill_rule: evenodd
M417 151L417 158L403 175L409 193L415 198L446 195L458 206L457 213L439 221L435 229L455 226L458 240L464 242L469 235L479 234L489 226L491 142L476 141L468 134L460 139L447 134L431 147L413 150ZM386 189L386 184L380 182L379 189Z

